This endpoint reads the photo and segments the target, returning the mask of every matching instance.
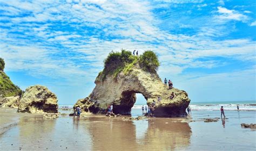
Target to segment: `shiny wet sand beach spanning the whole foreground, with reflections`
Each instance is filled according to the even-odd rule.
[[[140,110],[133,111],[137,114]],[[255,150],[256,131],[240,124],[256,123],[256,112],[225,114],[228,119],[212,123],[203,118],[219,117],[219,112],[193,111],[190,119],[43,119],[42,114],[0,108],[0,150]]]

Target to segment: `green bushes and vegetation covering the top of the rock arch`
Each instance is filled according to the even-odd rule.
[[[111,52],[104,60],[104,69],[100,71],[96,81],[104,81],[107,75],[116,77],[120,72],[128,74],[135,64],[145,71],[156,73],[160,63],[156,53],[145,51],[142,55],[132,55],[130,51]]]

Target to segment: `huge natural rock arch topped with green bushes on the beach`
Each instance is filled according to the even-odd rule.
[[[106,61],[110,60],[110,54],[105,61],[104,70],[96,78],[96,87],[90,96],[78,100],[75,106],[79,105],[86,112],[105,113],[107,106],[113,105],[115,114],[129,115],[131,114],[131,107],[136,102],[136,93],[140,93],[147,100],[147,105],[151,105],[153,100],[157,102],[158,97],[161,98],[160,102],[155,106],[156,117],[186,116],[185,110],[190,103],[187,93],[176,88],[169,90],[164,87],[164,83],[161,82],[156,72],[156,66],[150,69],[144,63],[145,60],[149,60],[148,62],[151,63],[157,59],[153,52],[150,53],[150,55],[144,53],[140,57],[129,55],[128,57],[131,57],[132,60],[128,63],[123,63],[124,65],[116,65],[121,64],[123,61],[118,62],[116,58],[111,60],[112,64],[109,62],[107,64]],[[123,51],[120,55],[123,55]],[[112,65],[112,68],[107,67],[106,64],[107,66]],[[170,99],[172,92],[174,92],[175,96]]]

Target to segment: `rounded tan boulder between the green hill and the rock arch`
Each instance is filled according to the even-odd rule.
[[[35,85],[26,89],[19,100],[18,112],[57,113],[58,100],[48,88]]]

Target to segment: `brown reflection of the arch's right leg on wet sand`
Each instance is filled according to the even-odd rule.
[[[191,128],[188,123],[172,119],[149,119],[149,128],[145,137],[146,150],[173,150],[190,145]]]

